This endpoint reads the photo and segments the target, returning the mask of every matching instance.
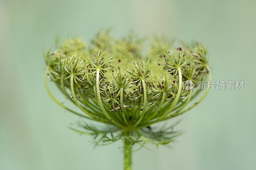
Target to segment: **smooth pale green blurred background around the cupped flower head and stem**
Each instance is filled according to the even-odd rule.
[[[69,130],[78,117],[44,88],[43,47],[56,33],[89,42],[102,28],[116,37],[130,29],[164,33],[208,47],[214,81],[244,81],[243,90],[212,90],[182,119],[186,133],[172,149],[133,154],[133,169],[256,169],[256,1],[0,1],[0,169],[122,169],[121,142],[93,149]],[[61,97],[50,83],[54,94]],[[174,120],[174,121],[176,121]],[[170,121],[173,123],[173,121]]]

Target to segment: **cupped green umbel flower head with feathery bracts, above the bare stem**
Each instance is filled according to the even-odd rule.
[[[94,135],[98,138],[97,145],[119,139],[130,148],[135,143],[167,144],[179,133],[173,127],[156,130],[151,124],[181,115],[204,99],[208,90],[198,101],[189,104],[203,90],[187,90],[185,81],[196,84],[207,77],[211,81],[207,50],[202,44],[173,49],[170,42],[155,36],[150,46],[153,53],[143,62],[146,56],[141,54],[142,39],[133,34],[118,40],[101,31],[92,40],[91,48],[80,37],[68,39],[57,45],[55,51],[44,53],[46,89],[61,107],[108,124],[97,128],[81,123],[84,131],[74,129]],[[130,65],[129,61],[134,62]],[[47,75],[83,113],[69,109],[54,98],[47,86]]]

